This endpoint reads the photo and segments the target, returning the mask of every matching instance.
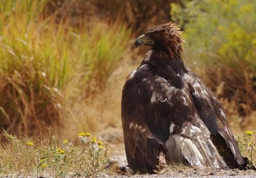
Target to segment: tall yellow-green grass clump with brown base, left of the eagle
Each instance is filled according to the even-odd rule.
[[[104,88],[129,40],[125,25],[87,29],[41,18],[47,1],[1,1],[0,127],[38,133],[72,103]],[[97,89],[92,86],[98,86]]]

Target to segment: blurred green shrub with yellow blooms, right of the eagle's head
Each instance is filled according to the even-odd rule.
[[[256,1],[209,0],[171,4],[185,29],[187,63],[218,96],[235,101],[234,114],[256,109]]]

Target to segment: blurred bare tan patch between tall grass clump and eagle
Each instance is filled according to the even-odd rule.
[[[97,133],[113,128],[122,131],[121,98],[122,89],[127,75],[134,70],[139,61],[132,60],[133,53],[125,52],[122,61],[106,82],[106,89],[97,96],[79,100],[70,110],[72,115],[64,120],[61,131],[67,137],[74,137],[74,130],[89,130]],[[108,133],[109,134],[109,133]]]

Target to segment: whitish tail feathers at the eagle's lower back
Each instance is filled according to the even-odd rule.
[[[186,163],[187,161],[189,165],[202,168],[228,168],[210,139],[197,137],[191,140],[181,135],[170,135],[166,147],[169,159],[174,162]]]

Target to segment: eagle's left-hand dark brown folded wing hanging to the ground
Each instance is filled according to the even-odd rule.
[[[152,174],[159,163],[161,142],[147,126],[144,105],[149,101],[151,94],[147,92],[147,87],[143,87],[147,80],[141,81],[147,73],[141,70],[143,69],[133,72],[125,82],[122,95],[122,126],[129,167],[134,171]]]

